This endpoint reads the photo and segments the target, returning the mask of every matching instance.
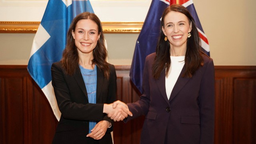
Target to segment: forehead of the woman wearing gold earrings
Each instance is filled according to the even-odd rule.
[[[175,22],[180,22],[180,21],[185,21],[188,22],[188,17],[185,14],[182,14],[180,12],[174,12],[170,11],[166,16],[164,17],[164,23],[175,23]]]

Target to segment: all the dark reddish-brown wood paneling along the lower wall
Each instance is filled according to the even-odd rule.
[[[130,66],[116,66],[117,99],[139,99]],[[215,66],[215,144],[256,144],[256,66]],[[115,122],[115,144],[138,144],[144,116]],[[0,66],[0,143],[50,144],[58,124],[26,66]]]

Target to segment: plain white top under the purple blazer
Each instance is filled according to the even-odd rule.
[[[171,67],[169,70],[169,75],[165,77],[165,89],[168,100],[172,93],[172,89],[180,75],[180,72],[185,64],[185,56],[170,56],[171,57]]]

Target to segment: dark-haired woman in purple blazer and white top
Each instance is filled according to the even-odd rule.
[[[124,122],[145,115],[141,144],[213,144],[213,61],[184,6],[166,8],[161,29],[156,52],[146,57],[143,94],[127,104],[133,116]]]

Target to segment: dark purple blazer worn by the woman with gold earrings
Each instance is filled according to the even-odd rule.
[[[165,70],[160,78],[152,76],[156,54],[146,57],[140,100],[128,104],[133,116],[145,115],[141,144],[213,144],[214,143],[214,64],[203,56],[204,66],[192,78],[183,78],[182,68],[168,100]]]

